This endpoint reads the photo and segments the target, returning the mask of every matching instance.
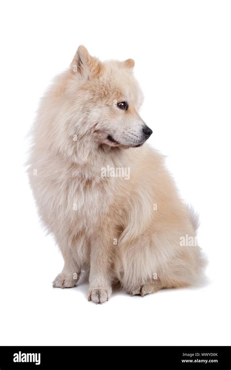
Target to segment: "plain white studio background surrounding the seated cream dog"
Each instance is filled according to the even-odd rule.
[[[231,2],[1,1],[0,344],[231,345]],[[210,282],[109,302],[53,289],[63,261],[39,225],[23,163],[39,98],[79,44],[135,59],[150,143],[200,214]]]

